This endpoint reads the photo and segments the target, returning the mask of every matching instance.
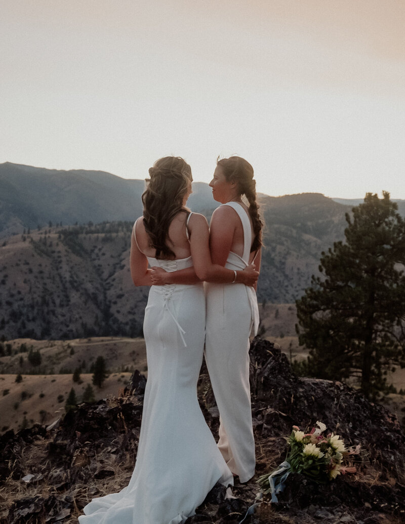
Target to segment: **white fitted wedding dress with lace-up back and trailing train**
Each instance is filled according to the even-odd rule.
[[[191,257],[148,261],[167,271],[192,266]],[[121,492],[87,504],[80,524],[179,524],[217,482],[233,484],[197,399],[204,334],[202,283],[150,288],[148,380],[135,470]]]

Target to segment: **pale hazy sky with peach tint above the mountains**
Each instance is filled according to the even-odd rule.
[[[405,199],[403,0],[0,0],[0,162]]]

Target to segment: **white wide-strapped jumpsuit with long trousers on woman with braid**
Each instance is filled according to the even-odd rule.
[[[249,264],[251,227],[242,205],[228,202],[239,215],[244,231],[244,252],[230,252],[225,267],[244,269]],[[255,290],[240,283],[206,283],[205,360],[220,411],[220,449],[240,482],[255,474],[255,441],[249,387],[249,335],[257,333],[259,312]]]

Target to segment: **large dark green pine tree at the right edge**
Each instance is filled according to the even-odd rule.
[[[346,213],[346,242],[322,253],[321,277],[297,300],[300,344],[311,374],[354,377],[367,397],[388,388],[405,362],[405,221],[389,193],[367,193]]]

